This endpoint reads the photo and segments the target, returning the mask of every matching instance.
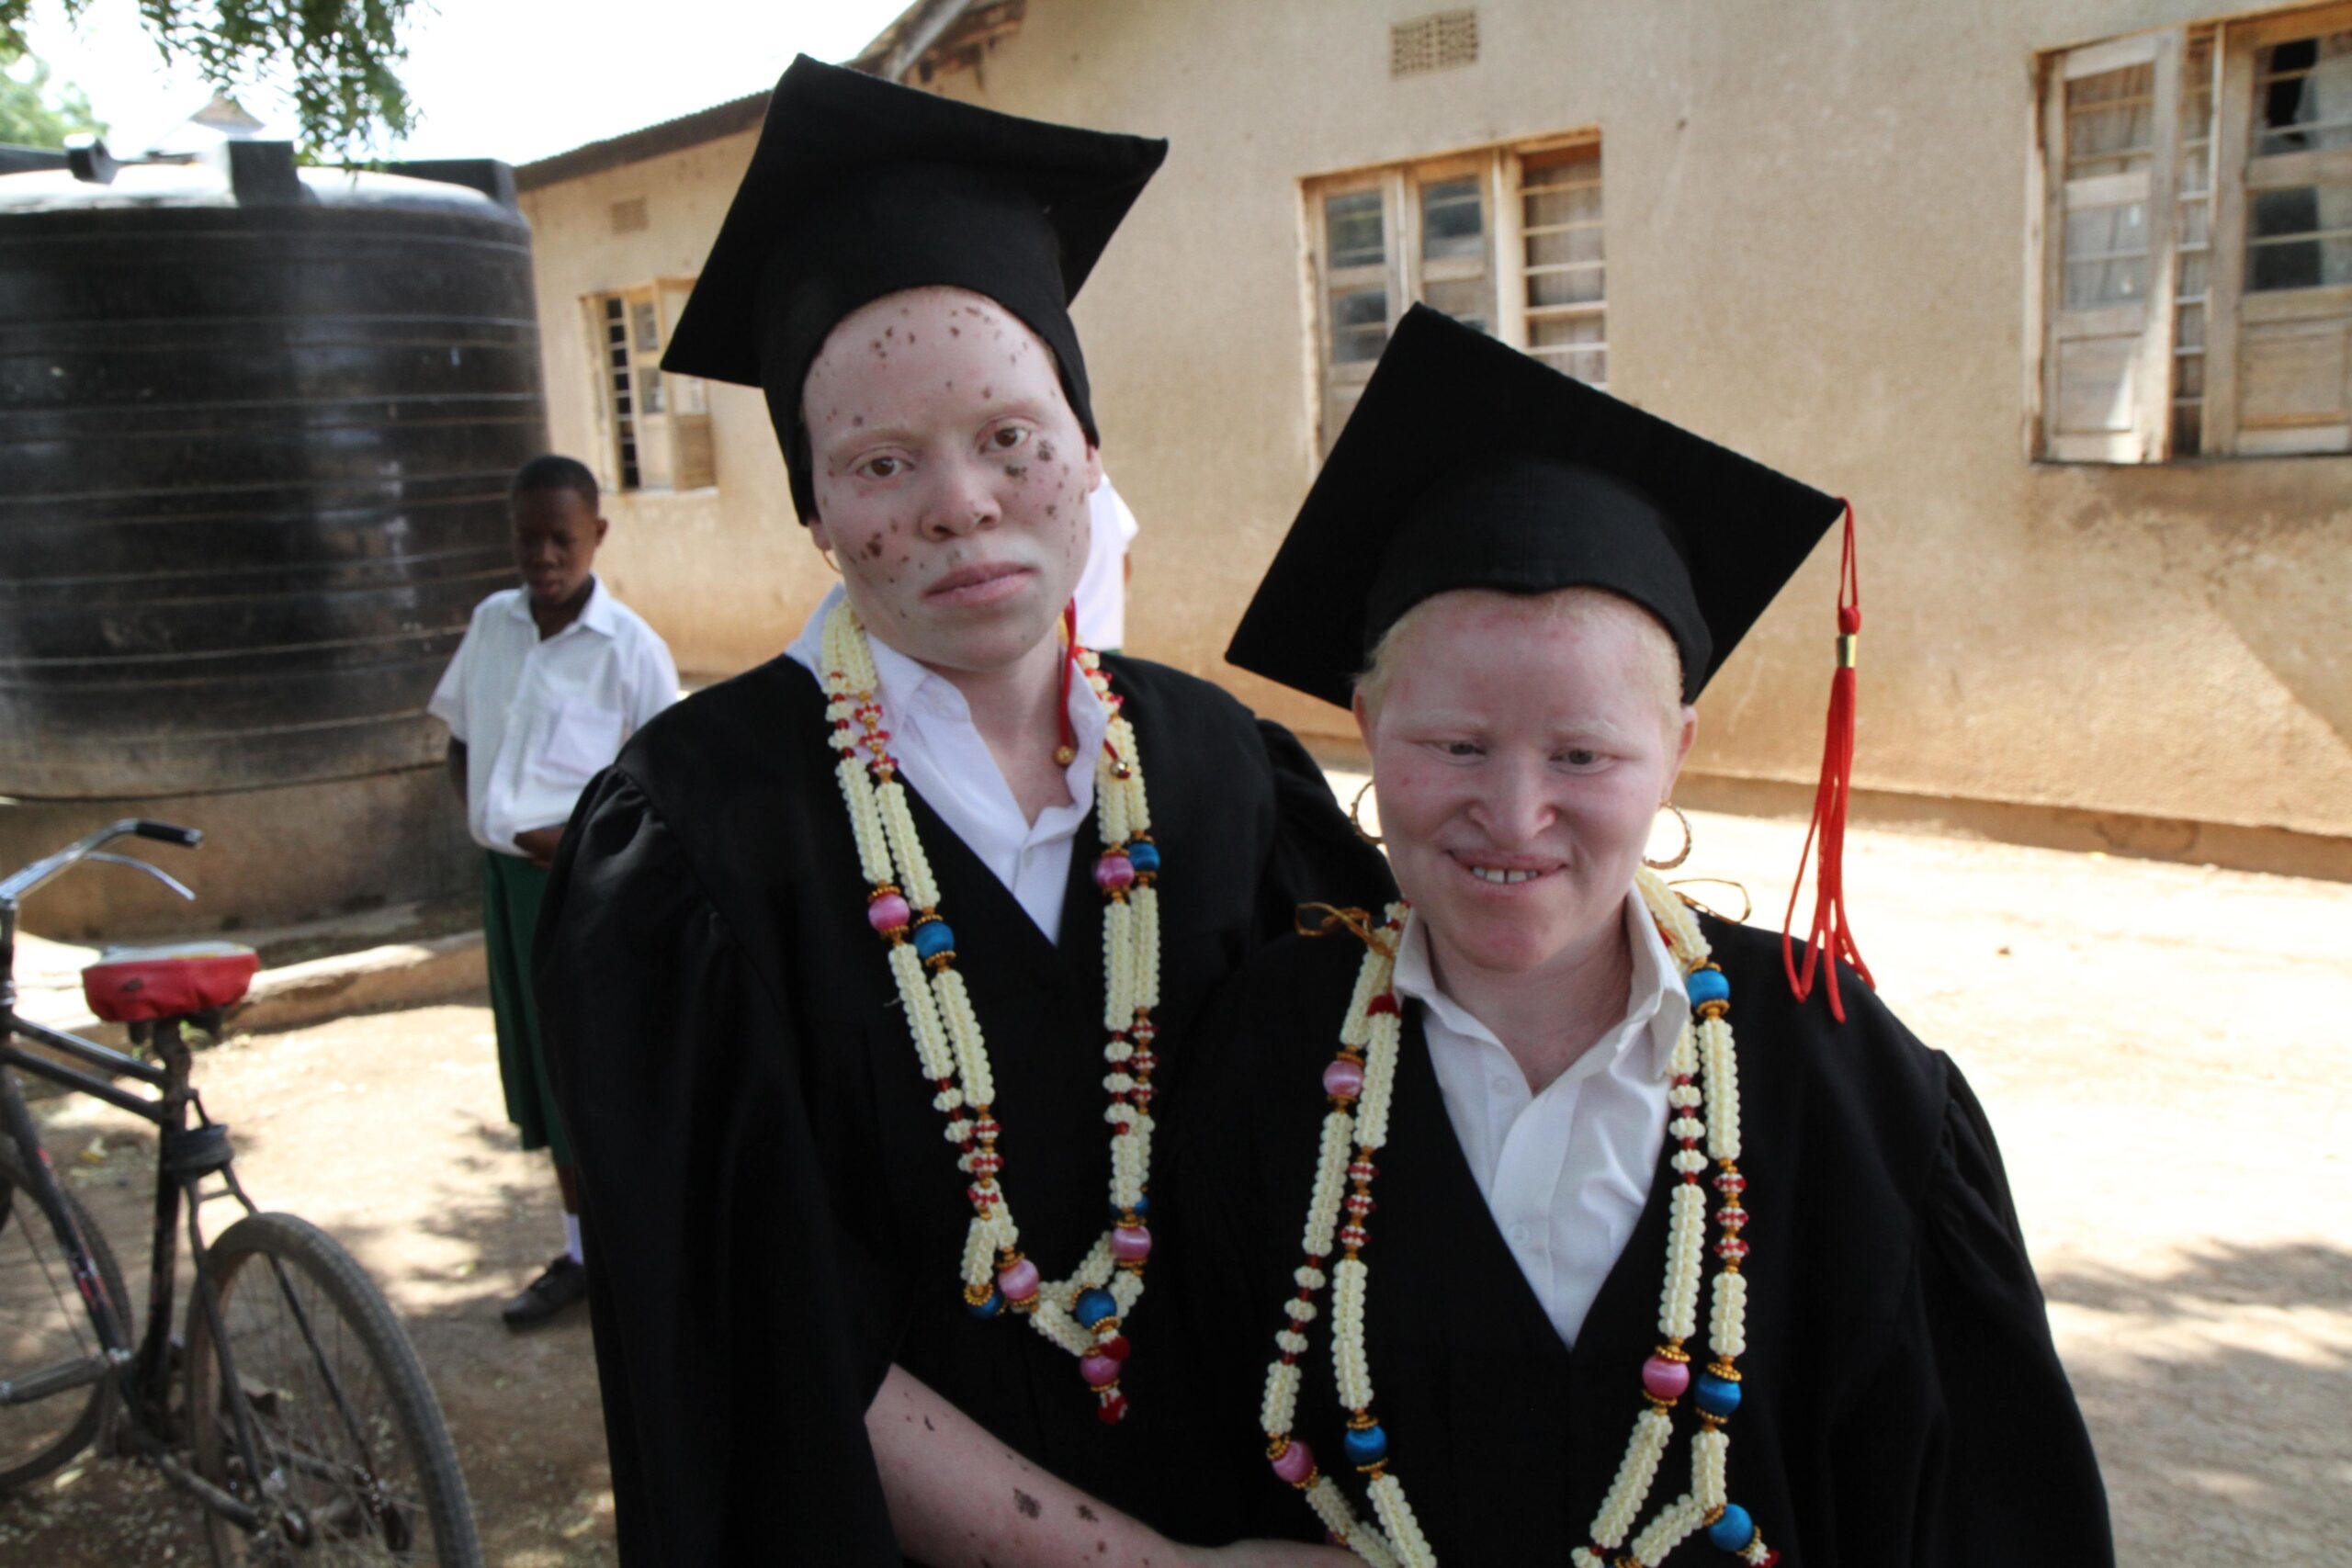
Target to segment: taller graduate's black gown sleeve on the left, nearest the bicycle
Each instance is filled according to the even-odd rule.
[[[898,1568],[866,1443],[887,1284],[833,1220],[781,997],[612,769],[539,926],[628,1568]]]

